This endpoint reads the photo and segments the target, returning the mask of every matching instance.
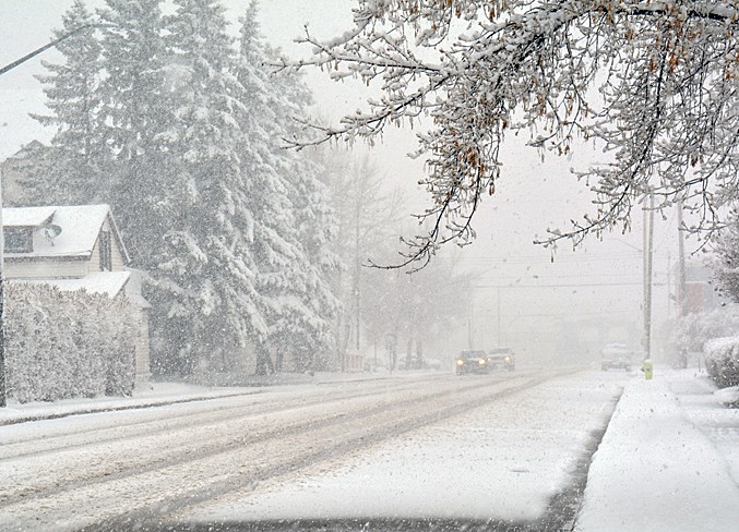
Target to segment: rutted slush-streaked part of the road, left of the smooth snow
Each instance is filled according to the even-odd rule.
[[[527,394],[550,378],[537,372],[469,378],[430,374],[291,386],[4,426],[0,529],[120,529],[130,520],[160,522],[172,512],[179,519],[199,505],[251,493],[260,483],[377,451],[378,445],[395,447],[402,435],[422,438],[424,427],[462,420],[473,408],[487,420],[499,415],[486,411],[494,404],[513,414],[505,401],[515,397],[516,404],[525,404]],[[609,394],[603,396],[607,401]],[[537,403],[532,412],[540,408]],[[475,428],[479,420],[461,423]],[[473,456],[484,452],[479,434],[464,437]],[[444,445],[452,442],[438,448]]]

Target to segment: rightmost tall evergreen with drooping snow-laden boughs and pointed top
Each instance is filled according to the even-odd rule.
[[[263,66],[276,52],[260,34],[254,2],[241,20],[239,51],[237,76],[247,109],[242,128],[250,132],[243,172],[253,191],[254,257],[267,302],[269,344],[277,370],[285,364],[297,371],[325,367],[338,307],[327,278],[338,264],[327,246],[335,220],[315,165],[281,146],[310,95],[297,76],[272,76]],[[260,368],[269,365],[262,361]]]

